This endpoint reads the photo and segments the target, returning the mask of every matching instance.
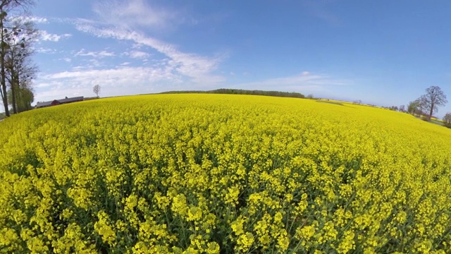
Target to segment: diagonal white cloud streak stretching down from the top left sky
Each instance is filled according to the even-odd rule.
[[[143,0],[99,1],[94,4],[93,11],[98,20],[80,18],[76,20],[75,28],[96,37],[129,41],[135,44],[135,48],[150,47],[170,60],[166,62],[168,69],[176,75],[189,78],[192,83],[221,83],[225,80],[214,72],[226,54],[202,56],[182,52],[174,44],[157,40],[144,32],[144,27],[168,25],[175,12],[150,6]],[[141,50],[128,52],[128,55],[145,59],[149,53]]]

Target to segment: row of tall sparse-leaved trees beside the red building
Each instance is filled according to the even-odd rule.
[[[39,32],[29,18],[32,0],[0,2],[0,94],[5,115],[32,109],[32,80],[37,66],[32,61]]]

